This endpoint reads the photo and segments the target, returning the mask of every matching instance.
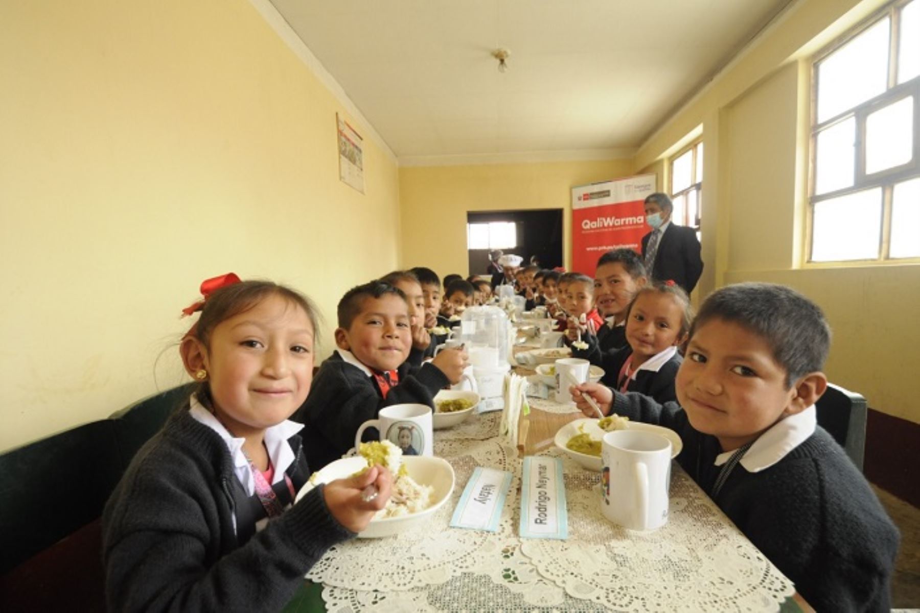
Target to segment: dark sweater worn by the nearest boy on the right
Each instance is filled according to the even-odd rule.
[[[712,494],[719,440],[694,429],[680,405],[615,392],[612,412],[680,434],[678,463]],[[748,471],[742,458],[714,502],[816,610],[890,610],[898,529],[822,427],[765,469]]]

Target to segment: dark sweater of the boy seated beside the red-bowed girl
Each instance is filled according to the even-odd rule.
[[[450,385],[447,376],[431,363],[420,368],[403,362],[397,369],[399,383],[384,398],[373,377],[333,353],[316,373],[306,402],[291,419],[304,427],[306,461],[318,471],[354,447],[354,435],[361,425],[376,419],[385,406],[403,403],[434,407],[434,395]],[[376,429],[364,431],[373,440]]]

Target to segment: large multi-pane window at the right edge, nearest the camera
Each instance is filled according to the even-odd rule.
[[[812,83],[810,261],[920,257],[920,0],[819,53]]]

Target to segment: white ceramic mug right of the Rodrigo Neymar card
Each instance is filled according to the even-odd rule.
[[[630,530],[654,530],[668,522],[671,441],[638,430],[615,430],[601,445],[601,512]]]

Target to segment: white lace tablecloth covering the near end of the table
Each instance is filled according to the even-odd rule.
[[[480,426],[492,419],[477,417]],[[549,449],[564,462],[569,539],[520,539],[516,450],[439,433],[435,454],[456,474],[453,500],[424,528],[329,550],[307,574],[324,585],[328,610],[775,611],[795,591],[676,464],[668,524],[632,532],[601,515],[600,475]],[[449,528],[477,466],[514,475],[497,533]]]

